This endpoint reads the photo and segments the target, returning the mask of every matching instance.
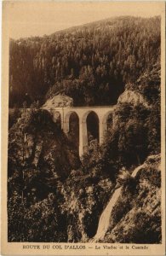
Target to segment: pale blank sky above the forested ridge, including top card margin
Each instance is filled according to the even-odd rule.
[[[3,3],[3,26],[9,38],[49,35],[72,26],[112,16],[161,15],[161,2],[54,2],[23,1]]]

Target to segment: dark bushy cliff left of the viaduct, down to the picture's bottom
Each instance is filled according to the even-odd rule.
[[[32,109],[11,127],[8,165],[9,241],[66,241],[59,190],[80,160],[48,111]]]

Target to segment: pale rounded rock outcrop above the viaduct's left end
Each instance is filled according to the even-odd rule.
[[[71,97],[59,94],[57,96],[53,96],[51,99],[49,99],[45,104],[43,105],[44,109],[51,109],[51,108],[66,108],[66,107],[72,107],[73,106],[73,100]]]

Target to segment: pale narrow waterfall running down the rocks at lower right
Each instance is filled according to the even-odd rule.
[[[134,172],[132,172],[131,176],[135,177],[136,174],[143,167],[145,167],[145,164],[135,168],[135,170],[134,170]],[[108,202],[106,208],[101,213],[99,224],[98,224],[98,229],[97,229],[97,232],[96,232],[94,238],[92,239],[92,241],[95,242],[95,241],[102,240],[106,236],[106,231],[108,230],[109,224],[110,224],[110,218],[112,217],[112,209],[115,206],[115,204],[116,204],[116,202],[119,198],[119,195],[121,194],[121,191],[122,191],[122,186],[114,191],[114,193],[113,193],[110,201]]]

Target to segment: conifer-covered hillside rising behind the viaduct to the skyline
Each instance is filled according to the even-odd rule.
[[[160,18],[117,17],[10,40],[9,107],[40,104],[60,90],[75,106],[111,105],[124,84],[160,56]]]

